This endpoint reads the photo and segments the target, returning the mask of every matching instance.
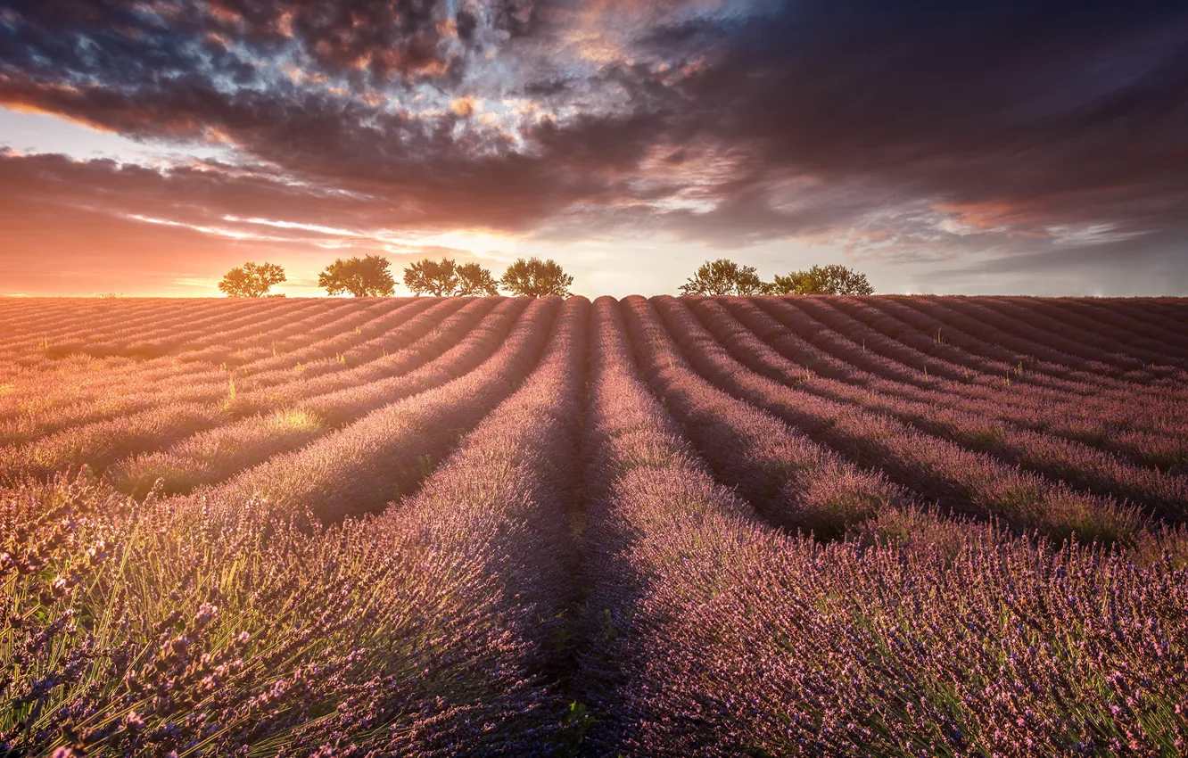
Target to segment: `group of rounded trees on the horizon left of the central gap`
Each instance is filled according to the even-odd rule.
[[[350,293],[355,297],[390,297],[396,279],[388,270],[392,263],[383,255],[337,259],[317,276],[317,285],[327,295]],[[285,280],[284,269],[276,264],[248,263],[228,271],[219,289],[230,297],[264,297],[273,285]],[[449,258],[418,260],[404,270],[404,285],[415,295],[499,295],[499,288],[520,297],[569,297],[574,278],[555,260],[520,258],[495,279],[476,263],[459,264]]]

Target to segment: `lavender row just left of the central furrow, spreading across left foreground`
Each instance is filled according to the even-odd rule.
[[[113,554],[71,595],[94,609],[80,614],[96,620],[94,636],[67,628],[50,664],[94,649],[96,637],[115,638],[127,655],[83,658],[80,676],[56,684],[69,705],[49,699],[42,724],[69,718],[88,752],[102,750],[106,734],[94,729],[108,714],[128,712],[143,715],[146,733],[164,734],[165,747],[219,756],[242,745],[326,753],[343,735],[374,754],[563,750],[568,701],[556,694],[554,631],[573,594],[564,512],[588,309],[567,304],[542,371],[413,500],[379,518],[303,532],[252,501],[146,507],[87,485],[0,491],[0,533],[14,516],[68,501],[86,513],[75,533],[100,531]],[[228,514],[238,518],[221,520]],[[113,602],[135,608],[137,623],[109,623]],[[178,645],[184,653],[170,655]],[[177,696],[194,687],[201,697]],[[0,709],[0,728],[19,718]],[[63,738],[38,727],[15,739],[39,752]]]

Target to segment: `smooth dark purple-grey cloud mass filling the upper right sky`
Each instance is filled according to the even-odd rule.
[[[1020,227],[1188,207],[1182,2],[797,2],[731,29],[645,40],[707,61],[669,130],[754,151],[727,201],[790,172]]]

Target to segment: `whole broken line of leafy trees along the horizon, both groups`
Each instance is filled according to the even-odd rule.
[[[388,271],[391,261],[383,255],[337,259],[317,277],[317,285],[328,295],[349,292],[355,297],[386,297],[396,291],[396,279]],[[227,272],[219,289],[232,297],[264,297],[273,285],[285,280],[284,269],[276,264],[248,263]],[[449,258],[425,258],[404,270],[404,285],[416,295],[450,297],[455,295],[499,295],[500,288],[520,297],[569,297],[574,278],[555,260],[520,258],[495,279],[476,263],[459,264]],[[776,276],[771,282],[759,278],[754,266],[741,266],[720,258],[707,260],[681,285],[682,295],[872,295],[874,288],[866,274],[846,266],[813,266]]]

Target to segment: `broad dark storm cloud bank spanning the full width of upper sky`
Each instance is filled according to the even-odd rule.
[[[323,215],[1057,260],[1146,236],[1168,255],[1188,213],[1183,2],[8,8],[0,102],[145,139],[226,140],[369,198]],[[484,120],[450,102],[463,95],[533,109]],[[434,96],[441,107],[410,109]]]

